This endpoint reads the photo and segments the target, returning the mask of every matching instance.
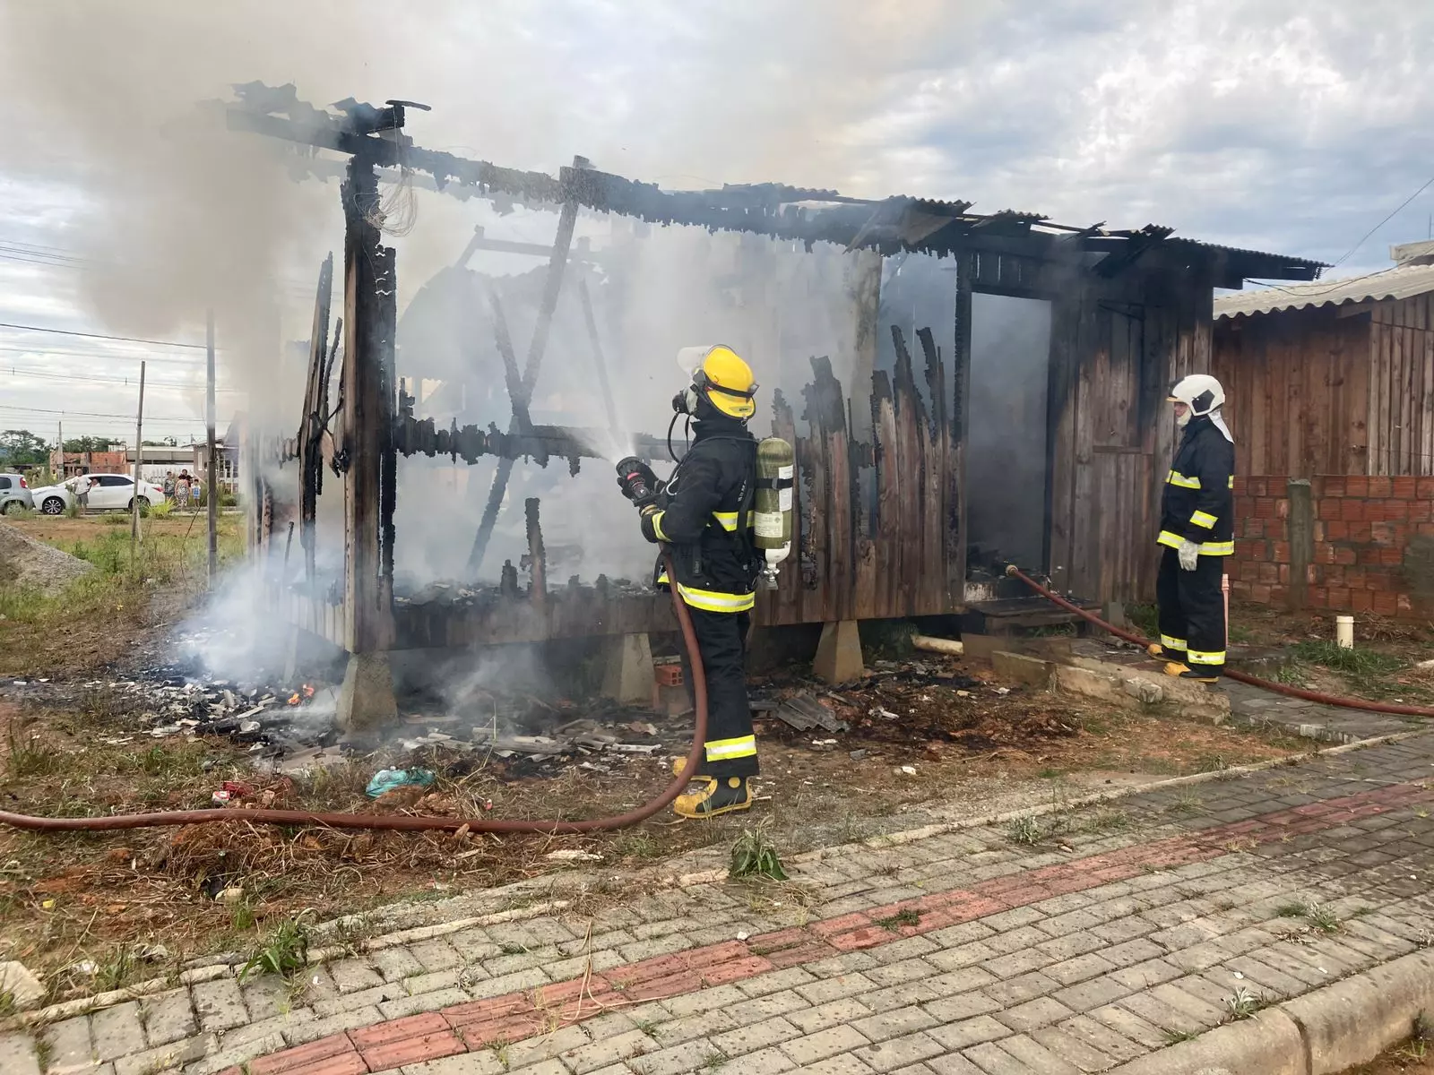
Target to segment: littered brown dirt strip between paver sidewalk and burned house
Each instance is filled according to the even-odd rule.
[[[759,728],[763,777],[751,814],[678,823],[660,814],[637,828],[592,837],[285,830],[242,821],[244,804],[313,810],[412,810],[443,816],[599,817],[654,797],[671,778],[670,757],[642,757],[614,774],[576,765],[518,775],[525,761],[396,755],[433,765],[436,788],[396,793],[374,804],[363,788],[377,767],[348,764],[313,777],[254,775],[228,740],[148,740],[129,714],[92,695],[75,711],[0,712],[4,774],[0,804],[17,813],[95,816],[198,808],[224,781],[247,787],[232,823],[110,834],[0,831],[3,956],[42,970],[54,996],[103,982],[162,973],[136,959],[162,943],[174,963],[217,950],[247,950],[278,920],[320,919],[393,900],[423,900],[562,869],[546,856],[582,849],[609,864],[638,864],[727,844],[757,821],[784,854],[919,826],[932,807],[971,816],[1028,808],[1156,775],[1222,768],[1302,751],[1292,741],[1140,714],[1111,714],[1048,694],[1012,691],[981,702],[946,688],[916,688],[925,699],[909,724],[878,720],[812,745],[769,720]],[[915,732],[915,734],[912,734]],[[128,741],[126,741],[128,740]],[[675,744],[674,752],[684,744]],[[432,751],[432,748],[424,748]],[[852,758],[850,751],[866,751]],[[902,767],[913,770],[906,773]],[[485,810],[492,804],[490,813]],[[1048,823],[1053,837],[1060,818]],[[1098,824],[1136,824],[1114,806]],[[241,890],[219,896],[224,890]],[[227,904],[224,900],[237,899]]]

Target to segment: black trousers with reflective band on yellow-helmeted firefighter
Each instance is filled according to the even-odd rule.
[[[697,635],[697,649],[707,675],[707,742],[697,774],[706,777],[757,775],[757,738],[747,707],[747,612],[707,612],[687,606]],[[693,692],[693,669],[683,648],[683,678]],[[695,704],[695,702],[694,702]],[[694,775],[697,775],[694,774]]]

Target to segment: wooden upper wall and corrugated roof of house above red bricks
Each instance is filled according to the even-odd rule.
[[[1394,268],[1215,300],[1242,474],[1434,474],[1434,242]]]

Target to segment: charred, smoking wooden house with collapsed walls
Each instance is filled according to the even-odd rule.
[[[324,282],[303,424],[270,456],[297,460],[305,559],[303,570],[274,580],[272,599],[293,622],[360,655],[351,679],[363,678],[363,655],[394,649],[673,629],[667,598],[650,586],[554,570],[545,530],[562,497],[523,496],[519,506],[509,494],[515,474],[539,467],[549,487],[594,472],[611,490],[601,447],[611,440],[668,457],[668,413],[644,407],[619,419],[612,403],[614,386],[621,394],[652,374],[614,371],[628,348],[592,328],[612,325],[614,304],[640,285],[631,252],[661,234],[726,244],[704,308],[743,315],[717,317],[675,344],[703,343],[701,331],[711,330],[746,348],[759,381],[773,386],[764,400],[770,429],[796,446],[796,549],[779,588],[760,595],[757,619],[833,631],[863,619],[999,615],[1007,606],[995,569],[1004,560],[1091,601],[1149,596],[1173,433],[1163,400],[1174,377],[1209,366],[1213,288],[1246,277],[1314,280],[1321,268],[1163,226],[1058,225],[1030,212],[977,214],[961,201],[859,199],[780,183],[671,192],[581,159],[559,176],[506,169],[414,146],[402,130],[403,105],[324,112],[297,102],[291,87],[247,87],[228,122],[300,143],[307,155],[297,166],[320,173],[331,175],[333,165],[311,148],[348,158],[341,360],[338,341],[327,340]],[[545,258],[545,271],[496,287],[470,282],[476,290],[459,297],[475,317],[455,341],[457,360],[440,361],[420,343],[417,321],[412,334],[400,322],[394,255],[374,212],[380,169],[552,211],[551,247],[529,249]],[[579,218],[617,221],[621,241],[576,249]],[[473,242],[521,245],[485,235]],[[589,262],[604,258],[601,278],[589,275]],[[437,278],[432,285],[469,287]],[[803,305],[817,294],[823,317]],[[565,295],[568,321],[559,317],[555,328]],[[531,311],[531,333],[512,331],[515,307]],[[739,324],[734,338],[727,325]],[[565,361],[582,363],[591,398],[604,400],[598,429],[538,413],[555,345]],[[470,360],[483,376],[455,388],[465,380],[465,348],[482,351]],[[663,355],[664,368],[674,353]],[[674,387],[668,381],[665,391]],[[500,398],[503,419],[479,424],[469,393],[489,404]],[[648,433],[632,433],[640,423]],[[482,517],[453,539],[467,553],[457,601],[394,589],[396,546],[410,540],[396,525],[397,476],[423,459],[485,476],[476,492]],[[317,484],[328,464],[341,476],[344,502],[343,570],[334,579],[314,565]],[[261,543],[282,510],[277,496],[271,487],[257,522]],[[488,545],[503,520],[521,527],[525,548],[498,566]],[[640,546],[635,526],[630,533]]]

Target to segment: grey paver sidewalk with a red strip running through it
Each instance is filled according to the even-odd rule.
[[[1431,942],[1434,732],[1007,828],[847,846],[40,1032],[70,1075],[1070,1075]],[[1053,831],[1054,828],[1054,831]],[[1296,907],[1312,914],[1292,914]],[[1321,926],[1326,927],[1321,929]],[[0,1072],[39,1071],[27,1033]]]

